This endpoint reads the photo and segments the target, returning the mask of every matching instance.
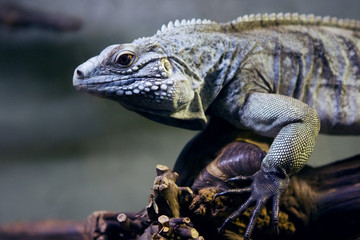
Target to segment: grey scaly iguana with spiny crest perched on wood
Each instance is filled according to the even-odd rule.
[[[251,194],[220,227],[253,204],[248,239],[270,199],[276,230],[279,199],[313,151],[320,123],[322,133],[360,133],[359,56],[356,20],[297,13],[176,20],[152,37],[107,47],[76,68],[73,85],[168,125],[201,130],[210,116],[273,138],[261,170],[236,178],[252,183],[230,192]],[[201,145],[201,134],[190,145]],[[175,164],[191,169],[183,183],[199,171],[192,155],[185,150]]]

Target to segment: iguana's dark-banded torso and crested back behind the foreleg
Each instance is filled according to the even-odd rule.
[[[307,103],[319,114],[323,133],[360,133],[358,28],[280,24],[231,34],[256,41],[241,63],[242,74],[252,72],[247,77],[261,86],[256,91]]]

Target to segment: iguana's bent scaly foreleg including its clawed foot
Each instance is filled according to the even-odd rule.
[[[309,158],[320,128],[319,118],[308,105],[286,96],[252,93],[240,109],[241,124],[258,134],[275,137],[261,169],[253,176],[238,176],[230,181],[252,180],[250,187],[233,189],[218,196],[251,193],[249,199],[230,215],[220,227],[242,214],[251,204],[255,209],[244,239],[248,239],[257,215],[265,203],[272,199],[275,229],[279,219],[280,197],[285,193],[289,178],[300,171]]]

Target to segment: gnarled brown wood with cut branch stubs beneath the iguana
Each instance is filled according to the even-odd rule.
[[[192,190],[175,184],[177,174],[157,167],[149,205],[138,213],[94,212],[88,217],[86,240],[219,239],[217,227],[246,199],[216,193],[241,187],[226,179],[251,174],[265,156],[254,143],[232,142],[215,154],[195,179]],[[245,184],[246,185],[246,184]],[[245,196],[246,197],[246,196]],[[223,239],[242,239],[251,209],[234,221]],[[253,239],[344,239],[360,237],[360,155],[318,168],[305,167],[280,205],[280,234],[273,236],[271,210],[258,217]],[[52,226],[52,227],[51,227]],[[81,223],[40,222],[0,228],[0,239],[81,239]]]

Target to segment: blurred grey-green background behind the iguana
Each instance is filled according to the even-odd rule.
[[[360,1],[0,0],[0,224],[144,207],[156,164],[172,167],[196,132],[77,93],[75,67],[169,20],[227,22],[265,12],[360,19]],[[321,136],[310,164],[359,146],[360,137]]]

